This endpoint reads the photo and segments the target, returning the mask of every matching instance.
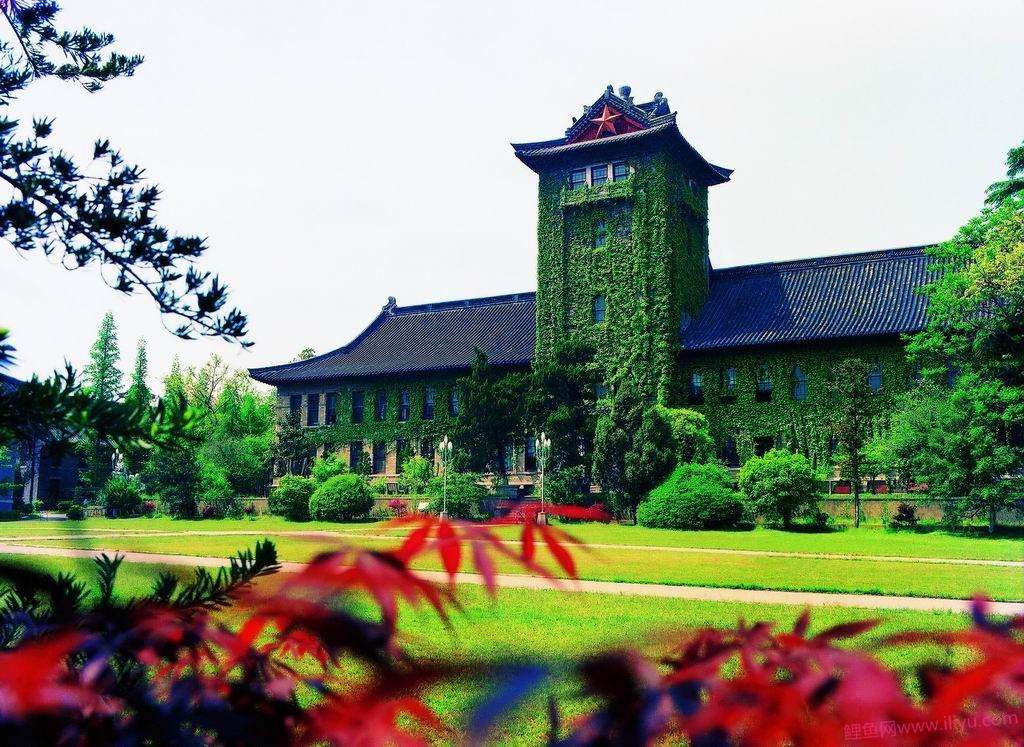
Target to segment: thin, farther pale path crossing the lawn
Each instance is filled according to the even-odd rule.
[[[124,532],[113,532],[111,530],[86,530],[84,532],[71,534],[48,534],[34,535],[28,537],[0,537],[0,542],[50,542],[58,540],[91,540],[102,537],[180,537],[189,535],[195,537],[308,537],[326,540],[332,539],[370,539],[370,540],[390,540],[398,541],[400,535],[367,534],[361,532],[331,532],[328,530],[309,530],[307,532],[296,530],[270,530],[270,531],[249,531],[249,530],[187,530],[184,532],[164,532],[162,530],[126,530]],[[518,545],[519,540],[503,540],[505,544]],[[809,559],[833,559],[833,561],[876,561],[881,563],[912,563],[932,564],[940,566],[994,566],[1000,568],[1021,568],[1024,569],[1024,561],[998,561],[973,557],[915,557],[907,555],[858,555],[849,552],[796,552],[788,550],[744,550],[728,547],[673,547],[670,545],[626,545],[626,544],[603,544],[587,542],[586,547],[591,549],[609,550],[636,550],[640,552],[682,552],[689,554],[720,554],[720,555],[746,555],[755,557],[797,557]]]

